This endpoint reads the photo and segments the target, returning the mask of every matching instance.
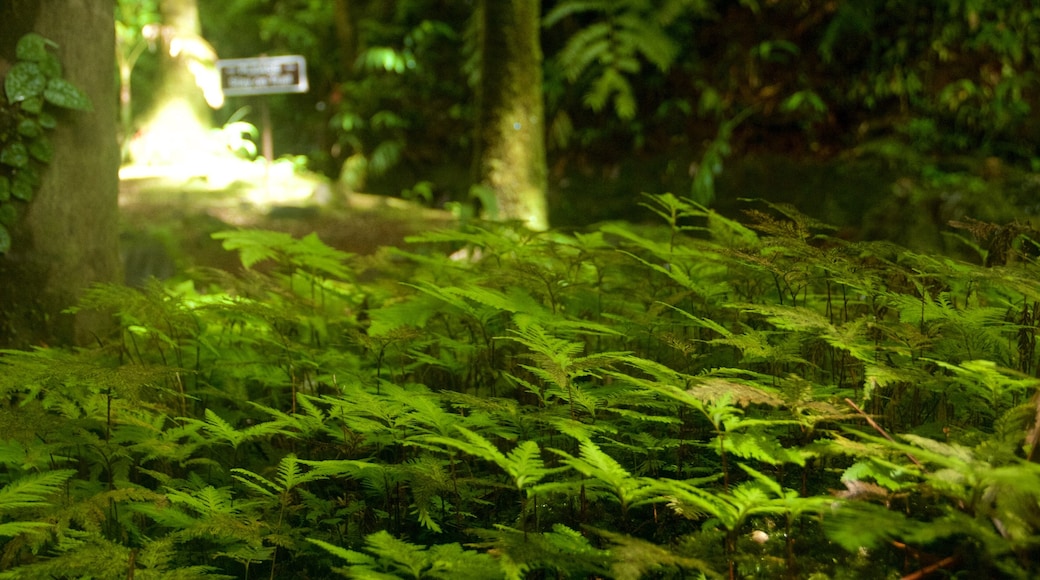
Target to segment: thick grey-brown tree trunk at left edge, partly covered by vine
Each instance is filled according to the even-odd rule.
[[[11,228],[10,253],[0,256],[0,346],[90,340],[101,320],[61,311],[90,284],[121,278],[112,6],[98,0],[0,4],[0,76],[15,60],[18,38],[34,31],[57,43],[66,78],[94,103],[92,112],[54,111],[53,160]]]

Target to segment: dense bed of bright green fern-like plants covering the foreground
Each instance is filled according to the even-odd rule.
[[[97,347],[0,357],[0,578],[1040,574],[1028,232],[646,205],[93,289]]]

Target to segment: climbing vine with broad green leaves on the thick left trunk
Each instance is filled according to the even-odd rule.
[[[54,156],[47,131],[57,120],[50,107],[89,111],[86,94],[67,81],[53,42],[30,32],[15,49],[15,64],[0,95],[0,255],[10,251],[8,228],[20,203],[32,201],[40,172]],[[48,107],[50,105],[50,107]],[[47,107],[47,108],[45,108]]]

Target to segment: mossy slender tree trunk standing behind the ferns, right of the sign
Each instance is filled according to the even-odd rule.
[[[489,217],[548,228],[539,0],[480,0],[474,181],[494,192]]]

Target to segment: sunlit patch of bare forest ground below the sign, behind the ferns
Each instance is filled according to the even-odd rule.
[[[254,167],[251,167],[254,165]],[[125,168],[120,180],[121,241],[127,282],[168,278],[190,267],[235,270],[237,255],[212,234],[234,229],[311,233],[352,254],[402,245],[453,223],[450,213],[395,197],[346,193],[327,180],[243,164],[228,174]],[[199,173],[199,172],[194,172]]]

